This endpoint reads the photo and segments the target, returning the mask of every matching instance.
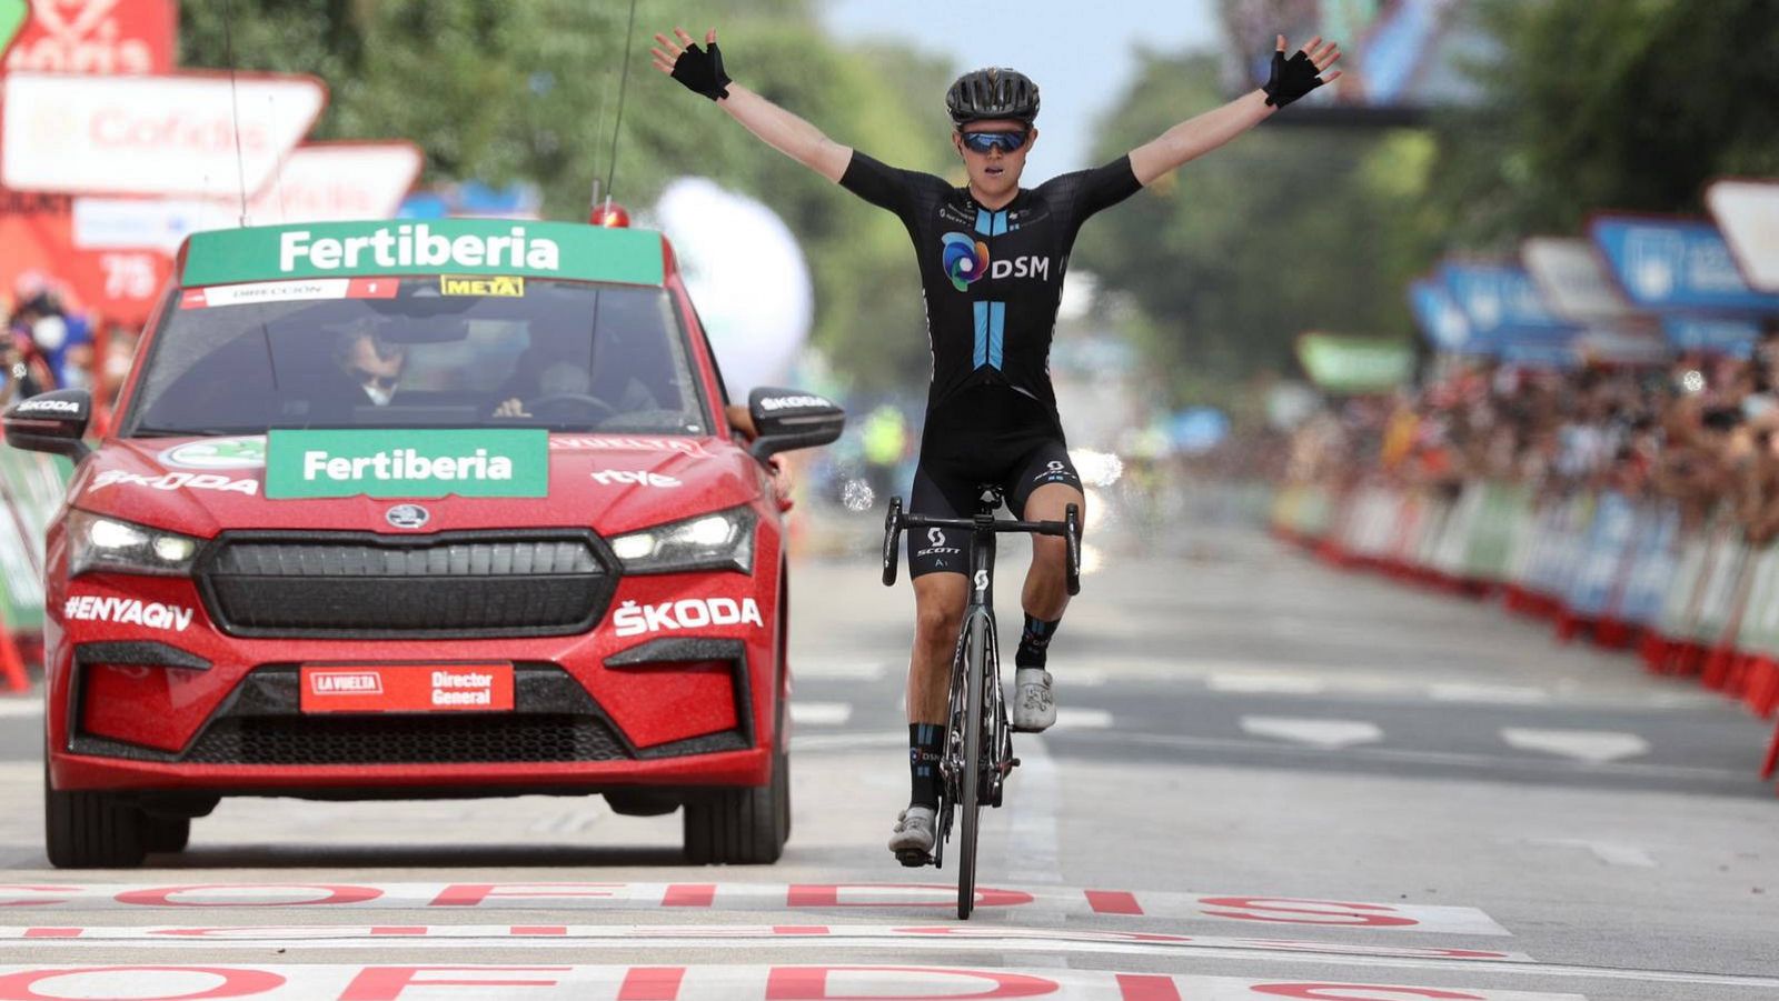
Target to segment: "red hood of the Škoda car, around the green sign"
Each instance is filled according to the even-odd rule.
[[[391,432],[398,434],[398,432]],[[756,500],[763,473],[720,437],[550,436],[543,498],[304,498],[267,500],[263,439],[110,439],[69,484],[69,503],[187,535],[285,528],[432,533],[479,528],[575,526],[616,535]],[[425,509],[402,528],[390,510]]]

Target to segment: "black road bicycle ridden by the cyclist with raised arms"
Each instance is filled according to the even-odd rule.
[[[1064,521],[998,519],[998,487],[982,487],[975,517],[925,517],[902,514],[902,498],[890,500],[884,517],[884,587],[895,583],[904,528],[955,528],[970,533],[970,603],[952,656],[950,711],[945,750],[939,754],[939,811],[932,841],[932,864],[945,868],[945,843],[952,820],[962,814],[957,864],[957,916],[970,919],[977,901],[977,834],[984,807],[1000,807],[1007,775],[1019,766],[1012,756],[1012,727],[1000,685],[1000,644],[994,637],[994,535],[1023,532],[1060,535],[1067,542],[1067,589],[1082,590],[1082,512],[1069,505]],[[902,859],[925,864],[925,859]]]

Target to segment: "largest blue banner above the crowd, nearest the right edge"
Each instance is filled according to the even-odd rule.
[[[1644,309],[1779,313],[1779,295],[1749,288],[1724,236],[1703,219],[1601,215],[1589,235]]]

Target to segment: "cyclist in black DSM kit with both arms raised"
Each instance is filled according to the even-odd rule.
[[[1050,340],[1076,231],[1092,213],[1340,76],[1336,71],[1322,78],[1340,59],[1334,43],[1316,37],[1286,57],[1279,36],[1265,87],[1187,119],[1103,167],[1021,188],[1026,153],[1037,142],[1037,85],[1005,68],[964,73],[945,94],[952,146],[970,176],[959,188],[932,174],[879,164],[735,84],[724,71],[715,28],[704,46],[683,28],[674,36],[678,43],[655,36],[656,69],[907,226],[932,345],[909,512],[930,517],[970,517],[984,482],[1000,485],[1009,507],[1026,521],[1060,521],[1071,503],[1085,509],[1050,384]],[[907,681],[913,795],[890,839],[890,850],[906,864],[920,864],[934,841],[950,663],[970,587],[964,541],[954,535],[938,528],[909,535],[916,608]],[[1062,539],[1032,539],[1021,594],[1025,628],[1014,654],[1018,731],[1042,731],[1057,718],[1046,653],[1067,605],[1064,548]]]

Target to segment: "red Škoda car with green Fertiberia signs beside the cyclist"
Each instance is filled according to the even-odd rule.
[[[699,862],[790,830],[783,484],[822,396],[722,379],[658,233],[194,235],[48,533],[48,855],[178,852],[226,795],[603,793]],[[742,428],[731,427],[735,423]],[[745,427],[745,425],[753,427]]]

